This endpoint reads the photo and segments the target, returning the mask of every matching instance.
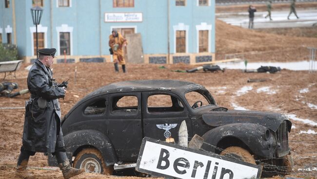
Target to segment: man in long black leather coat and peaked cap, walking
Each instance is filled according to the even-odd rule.
[[[56,156],[64,179],[69,179],[84,172],[84,169],[72,168],[65,153],[58,98],[63,98],[66,90],[55,82],[50,69],[56,49],[40,49],[38,52],[39,58],[27,77],[31,97],[25,106],[22,147],[16,175],[23,179],[34,179],[26,171],[29,157],[36,152],[44,152]]]

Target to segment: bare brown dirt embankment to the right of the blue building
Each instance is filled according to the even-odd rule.
[[[243,54],[248,61],[300,61],[308,59],[307,47],[316,45],[317,38],[268,34],[216,20],[217,60]]]

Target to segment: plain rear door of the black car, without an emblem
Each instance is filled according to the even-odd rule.
[[[109,95],[107,136],[119,161],[136,161],[142,143],[141,93]]]

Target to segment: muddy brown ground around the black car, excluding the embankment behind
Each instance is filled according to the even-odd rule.
[[[24,64],[24,67],[26,64]],[[77,84],[74,84],[74,70],[78,68]],[[317,122],[317,73],[282,70],[276,74],[243,73],[239,70],[225,72],[179,73],[171,70],[185,70],[193,66],[184,64],[128,65],[128,73],[115,73],[110,63],[54,64],[58,81],[70,78],[70,85],[64,100],[60,100],[62,114],[65,114],[80,98],[100,86],[123,80],[138,79],[178,79],[192,81],[205,86],[214,95],[219,106],[228,108],[244,107],[249,110],[264,110],[296,115],[300,119]],[[20,89],[26,88],[27,71],[17,72]],[[268,78],[261,83],[247,83],[249,78]],[[100,80],[101,79],[101,80]],[[241,89],[248,87],[245,93]],[[264,90],[269,89],[269,90]],[[306,90],[305,90],[306,89]],[[303,92],[304,91],[304,92]],[[1,97],[0,107],[23,107],[28,95],[8,99]],[[313,105],[313,106],[312,106]],[[315,105],[315,106],[314,106]],[[14,178],[14,166],[19,155],[24,122],[24,109],[0,109],[0,178]],[[292,120],[293,127],[289,142],[295,160],[295,176],[315,177],[317,171],[316,134],[300,133],[309,129],[317,131],[317,125],[304,124]],[[30,166],[46,166],[46,157],[36,154],[30,159]],[[306,171],[307,170],[307,171]],[[313,170],[313,171],[309,171]],[[61,177],[60,172],[35,170],[42,178]],[[84,174],[78,179],[94,178]],[[104,178],[109,178],[102,176]],[[98,176],[101,178],[101,176]]]

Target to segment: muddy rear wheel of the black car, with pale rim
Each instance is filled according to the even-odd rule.
[[[98,173],[111,175],[112,167],[106,167],[101,153],[96,148],[85,148],[75,157],[73,166],[75,168],[84,168],[86,173]]]

